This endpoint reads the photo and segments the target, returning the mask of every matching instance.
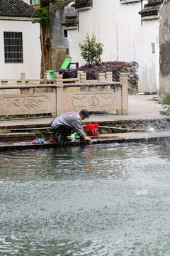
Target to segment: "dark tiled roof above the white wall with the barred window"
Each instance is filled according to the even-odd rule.
[[[22,0],[0,0],[0,16],[31,17],[35,15],[32,6]]]

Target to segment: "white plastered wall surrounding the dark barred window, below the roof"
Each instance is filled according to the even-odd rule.
[[[5,63],[4,31],[23,33],[23,63]],[[0,78],[40,78],[40,25],[30,21],[0,21]]]

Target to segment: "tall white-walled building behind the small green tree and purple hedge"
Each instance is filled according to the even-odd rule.
[[[79,12],[79,26],[68,33],[72,62],[84,65],[79,43],[84,41],[86,33],[90,36],[94,33],[96,41],[104,45],[102,61],[136,61],[140,78],[138,90],[159,90],[159,16],[149,12],[147,16],[139,14],[149,1],[91,0],[90,5],[90,1],[81,2],[88,4],[74,4]]]

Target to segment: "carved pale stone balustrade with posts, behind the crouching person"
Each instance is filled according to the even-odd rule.
[[[77,78],[54,80],[26,79],[25,73],[16,80],[0,79],[0,115],[52,114],[72,110],[128,114],[128,74],[120,73],[120,82],[112,81],[112,73],[98,73],[98,80],[86,80],[79,71]]]

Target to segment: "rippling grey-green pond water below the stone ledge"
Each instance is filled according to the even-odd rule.
[[[0,255],[170,255],[169,145],[0,153]]]

